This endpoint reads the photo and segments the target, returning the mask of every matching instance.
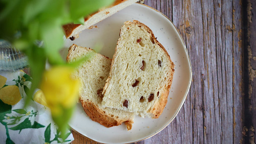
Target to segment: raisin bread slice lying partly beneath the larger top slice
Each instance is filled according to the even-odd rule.
[[[105,108],[101,104],[102,91],[109,75],[111,60],[90,48],[73,44],[68,50],[67,62],[74,62],[89,52],[92,52],[94,56],[72,74],[72,77],[79,78],[82,82],[83,86],[79,95],[85,113],[91,120],[106,127],[120,125],[125,122],[128,130],[131,129],[134,113]]]

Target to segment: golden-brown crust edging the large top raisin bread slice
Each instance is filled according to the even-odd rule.
[[[132,22],[131,21],[126,21],[124,23],[126,25],[136,24],[138,26],[143,26],[148,31],[148,33],[150,34],[150,36],[152,37],[153,41],[162,48],[162,50],[164,51],[166,57],[169,60],[168,62],[170,62],[171,67],[170,67],[170,71],[168,72],[168,74],[170,74],[171,76],[169,77],[170,79],[168,80],[168,84],[165,85],[165,87],[163,87],[163,92],[159,94],[159,96],[160,96],[159,100],[148,111],[149,116],[151,118],[157,119],[162,114],[162,112],[163,112],[163,110],[164,110],[164,108],[165,108],[165,106],[166,106],[166,104],[168,102],[168,95],[169,95],[169,92],[170,92],[170,89],[171,89],[171,83],[172,83],[172,78],[173,78],[175,64],[171,61],[170,55],[168,54],[168,52],[166,51],[164,46],[159,41],[156,40],[152,30],[147,25],[145,25],[144,23],[141,23],[140,21],[137,21],[137,20],[133,20]],[[120,34],[122,33],[121,30],[120,30]],[[119,43],[119,40],[117,41],[117,45]],[[115,57],[116,57],[116,51],[117,51],[117,46],[115,48],[115,54],[114,54],[112,62],[111,62],[110,74],[112,73],[112,66],[114,65],[114,61],[115,61]],[[107,83],[104,86],[104,94],[105,94],[105,92],[106,92],[105,90],[107,89],[107,86],[109,84],[109,80],[111,79],[110,77],[111,77],[111,75],[109,75],[109,77],[108,77],[108,79],[106,81]]]

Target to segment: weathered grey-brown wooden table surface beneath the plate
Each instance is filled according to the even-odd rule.
[[[145,0],[180,32],[192,83],[176,118],[135,144],[256,142],[256,0]],[[72,144],[97,144],[72,131]]]

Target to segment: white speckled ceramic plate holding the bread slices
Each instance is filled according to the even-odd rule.
[[[78,39],[65,41],[68,48],[73,43],[93,48],[103,44],[101,54],[112,58],[119,39],[120,28],[125,21],[138,20],[149,26],[157,40],[166,48],[175,64],[168,103],[158,119],[135,117],[132,129],[127,131],[125,124],[106,128],[93,122],[85,114],[80,103],[69,123],[81,135],[107,144],[134,143],[147,139],[165,128],[184,103],[192,80],[192,68],[186,46],[172,22],[162,13],[143,4],[135,3],[122,11],[97,23],[98,28],[84,30]],[[67,52],[65,50],[65,52]],[[64,56],[66,56],[64,54]]]

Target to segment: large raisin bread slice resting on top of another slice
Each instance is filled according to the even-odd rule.
[[[126,21],[120,31],[102,104],[158,118],[167,103],[174,63],[148,26]]]

